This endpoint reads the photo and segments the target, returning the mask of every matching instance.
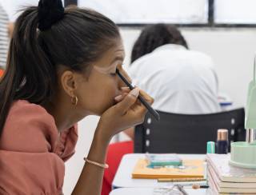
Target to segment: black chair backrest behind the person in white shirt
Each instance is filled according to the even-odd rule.
[[[135,127],[134,153],[206,153],[206,142],[216,141],[218,129],[229,130],[230,142],[246,139],[243,108],[210,114],[159,114],[160,121],[147,113],[144,123]]]

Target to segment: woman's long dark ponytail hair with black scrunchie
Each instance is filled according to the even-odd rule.
[[[94,10],[64,9],[62,0],[40,0],[26,8],[15,22],[0,82],[0,136],[13,101],[50,101],[58,65],[89,71],[118,38],[118,26]]]

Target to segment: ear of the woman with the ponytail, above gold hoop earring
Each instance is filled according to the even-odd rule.
[[[74,72],[70,70],[65,70],[61,76],[61,86],[63,90],[68,94],[70,97],[74,97],[74,91],[77,90],[77,77]]]

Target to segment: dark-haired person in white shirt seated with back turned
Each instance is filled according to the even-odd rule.
[[[212,59],[189,50],[175,26],[146,26],[134,43],[128,72],[134,84],[155,99],[154,109],[187,114],[221,111]]]

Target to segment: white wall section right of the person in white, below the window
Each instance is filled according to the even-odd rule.
[[[204,51],[214,59],[220,92],[229,94],[235,107],[244,106],[253,77],[256,30],[184,30],[184,35],[192,49]]]

